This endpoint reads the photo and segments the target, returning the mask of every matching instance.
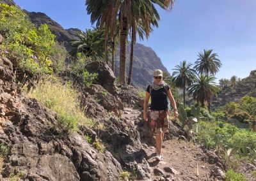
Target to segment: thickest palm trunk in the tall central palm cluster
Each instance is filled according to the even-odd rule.
[[[122,17],[120,28],[120,66],[119,66],[119,83],[126,83],[126,49],[127,49],[127,17]]]

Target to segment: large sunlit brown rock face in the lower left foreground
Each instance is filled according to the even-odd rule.
[[[0,68],[0,143],[10,147],[1,179],[22,172],[29,180],[118,180],[121,165],[108,151],[81,131],[61,138],[56,114],[17,93],[12,62],[0,58]]]

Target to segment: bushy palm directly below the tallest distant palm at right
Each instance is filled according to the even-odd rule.
[[[201,103],[201,106],[205,106],[205,102],[208,103],[208,109],[210,110],[210,101],[213,96],[217,96],[220,88],[214,82],[216,78],[212,75],[198,75],[195,78],[195,82],[189,87],[188,94],[193,95],[193,98],[197,103]]]

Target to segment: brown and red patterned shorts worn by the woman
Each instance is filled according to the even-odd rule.
[[[169,127],[168,110],[151,111],[151,129],[152,133],[159,135],[165,133]]]

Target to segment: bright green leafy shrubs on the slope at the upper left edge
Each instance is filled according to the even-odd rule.
[[[29,73],[52,73],[54,35],[47,25],[35,27],[17,6],[0,4],[0,33],[4,55]]]

